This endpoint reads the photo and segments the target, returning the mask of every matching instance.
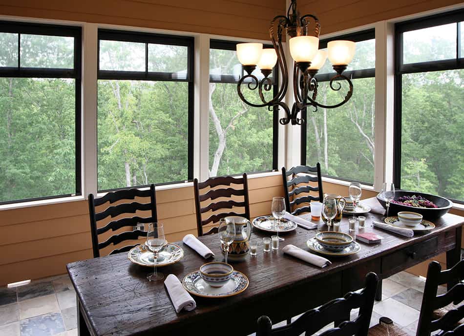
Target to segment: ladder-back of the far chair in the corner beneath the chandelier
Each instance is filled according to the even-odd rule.
[[[315,167],[296,166],[289,170],[282,167],[282,180],[284,185],[285,206],[287,207],[287,211],[294,215],[311,211],[310,205],[298,207],[301,203],[309,204],[311,201],[322,202],[324,199],[319,163],[317,163]],[[309,182],[317,182],[317,187],[309,185]],[[298,186],[299,184],[304,185]],[[309,193],[311,191],[317,191],[317,196],[304,195],[296,197],[298,194],[303,192]]]

